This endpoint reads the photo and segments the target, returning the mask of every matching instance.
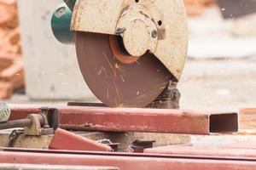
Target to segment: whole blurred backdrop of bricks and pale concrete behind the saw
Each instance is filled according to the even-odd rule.
[[[236,1],[244,14],[230,13],[237,12],[235,0],[184,0],[189,51],[178,83],[182,109],[236,111],[256,105],[256,8]],[[0,99],[45,105],[97,101],[79,71],[74,47],[57,42],[51,32],[58,3],[0,0]]]

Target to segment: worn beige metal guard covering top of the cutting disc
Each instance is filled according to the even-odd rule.
[[[158,33],[153,54],[179,81],[188,48],[183,0],[77,0],[71,30],[116,35],[122,16],[134,6],[150,14]]]

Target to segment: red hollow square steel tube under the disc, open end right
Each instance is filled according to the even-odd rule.
[[[60,108],[61,127],[104,132],[236,133],[236,113],[159,109]]]

